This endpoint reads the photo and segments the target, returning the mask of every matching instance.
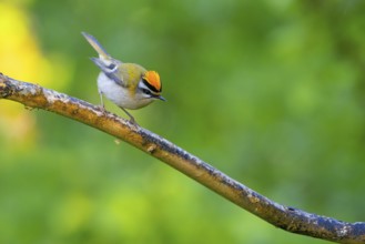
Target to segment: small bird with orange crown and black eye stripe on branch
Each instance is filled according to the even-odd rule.
[[[99,58],[91,60],[101,69],[98,77],[98,90],[101,108],[104,110],[103,95],[121,108],[132,123],[134,118],[125,110],[141,109],[154,100],[165,101],[161,96],[162,83],[155,71],[148,71],[135,63],[124,63],[113,59],[99,41],[82,32],[92,48],[99,53]]]

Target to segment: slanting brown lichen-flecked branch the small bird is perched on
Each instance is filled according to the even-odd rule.
[[[43,109],[93,126],[161,160],[226,200],[285,231],[338,243],[365,243],[365,223],[346,223],[277,204],[170,141],[95,105],[0,73],[0,99]]]

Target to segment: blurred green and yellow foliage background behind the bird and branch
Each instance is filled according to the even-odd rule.
[[[278,203],[365,221],[364,11],[361,0],[2,0],[0,72],[97,104],[87,31],[159,71],[168,102],[132,111],[142,126]],[[0,243],[326,242],[108,134],[0,100]]]

